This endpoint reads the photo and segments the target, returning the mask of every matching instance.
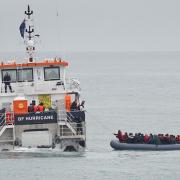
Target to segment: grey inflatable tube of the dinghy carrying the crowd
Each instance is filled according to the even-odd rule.
[[[130,144],[121,143],[117,139],[113,139],[110,145],[115,150],[180,150],[180,144]]]

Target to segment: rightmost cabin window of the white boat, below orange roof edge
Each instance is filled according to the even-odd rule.
[[[44,68],[44,80],[59,80],[60,79],[60,69],[59,67],[45,67]]]

